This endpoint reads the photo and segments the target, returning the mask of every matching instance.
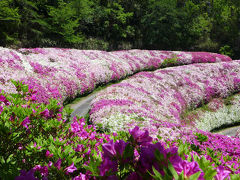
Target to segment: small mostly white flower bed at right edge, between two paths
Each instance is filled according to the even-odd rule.
[[[211,131],[222,125],[232,125],[240,122],[240,93],[225,99],[214,98],[203,107],[186,112],[184,121],[195,121],[196,127]]]

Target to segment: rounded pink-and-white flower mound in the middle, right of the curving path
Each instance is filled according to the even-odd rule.
[[[108,87],[92,101],[90,119],[111,131],[142,126],[152,134],[160,122],[189,124],[181,115],[214,97],[228,97],[240,91],[240,61],[193,64],[140,72]],[[224,122],[219,121],[218,126]],[[208,125],[211,130],[216,125]]]

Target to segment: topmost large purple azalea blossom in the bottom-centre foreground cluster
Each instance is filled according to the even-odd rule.
[[[152,142],[152,137],[149,136],[149,132],[141,131],[138,126],[134,129],[129,130],[129,133],[132,135],[133,139],[138,145],[147,145]]]

